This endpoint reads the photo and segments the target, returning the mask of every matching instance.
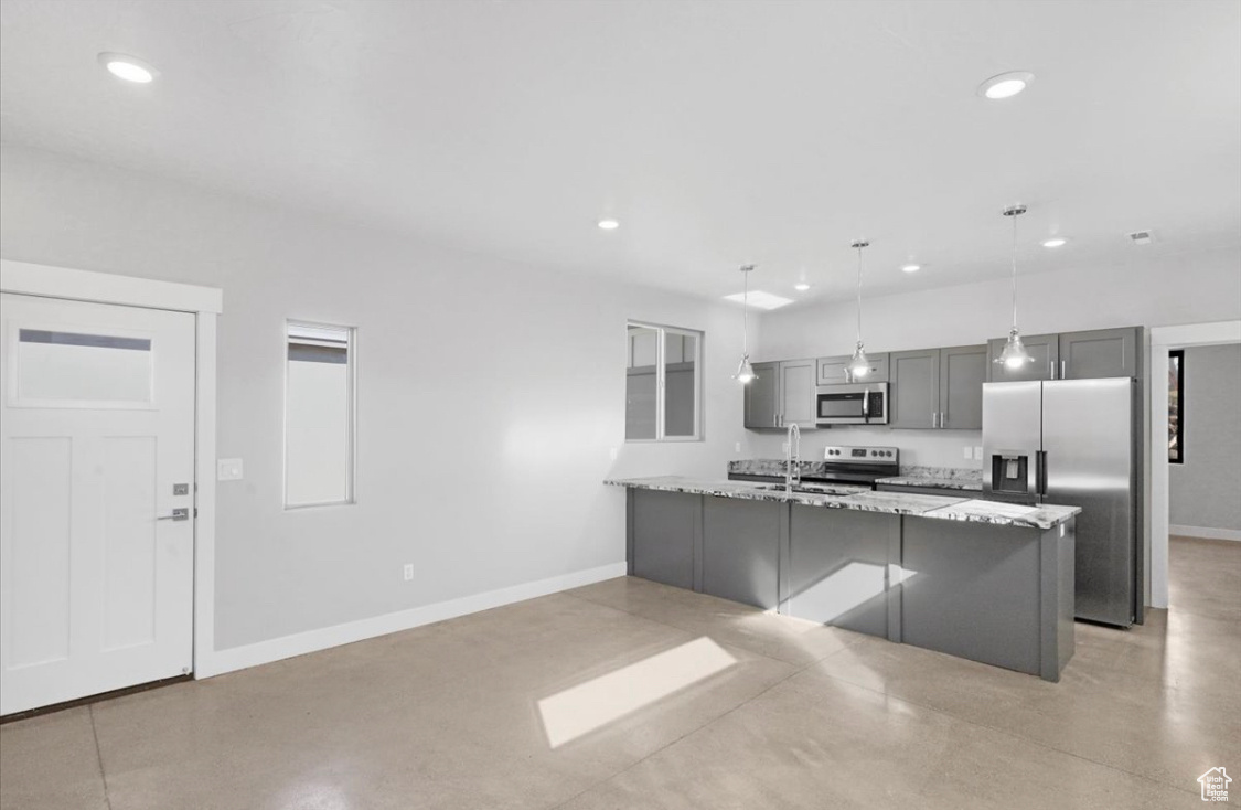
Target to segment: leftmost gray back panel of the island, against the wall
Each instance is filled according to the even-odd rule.
[[[694,543],[702,496],[629,489],[629,573],[665,585],[694,588]]]

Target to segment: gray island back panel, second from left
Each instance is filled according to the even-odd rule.
[[[702,593],[774,608],[779,537],[787,507],[773,501],[702,498]]]

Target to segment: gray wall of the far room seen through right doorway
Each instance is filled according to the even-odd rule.
[[[1172,526],[1241,532],[1239,403],[1241,344],[1185,349],[1185,462],[1168,465]]]

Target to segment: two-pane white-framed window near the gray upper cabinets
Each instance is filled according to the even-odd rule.
[[[630,323],[625,441],[701,439],[702,333]]]

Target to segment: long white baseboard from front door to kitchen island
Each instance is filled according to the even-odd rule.
[[[210,678],[225,672],[235,672],[261,663],[271,663],[272,661],[292,658],[308,652],[336,647],[343,644],[352,644],[354,641],[410,630],[411,627],[429,625],[446,619],[455,619],[457,616],[464,616],[480,610],[510,605],[526,599],[534,599],[535,596],[546,596],[547,594],[555,594],[571,588],[601,583],[606,579],[624,576],[624,563],[612,563],[609,565],[573,571],[572,574],[562,574],[483,594],[441,601],[433,605],[411,608],[410,610],[395,614],[383,614],[382,616],[361,619],[320,630],[308,630],[307,632],[258,641],[241,647],[216,650],[206,661],[195,661],[194,677]]]

